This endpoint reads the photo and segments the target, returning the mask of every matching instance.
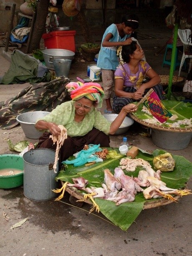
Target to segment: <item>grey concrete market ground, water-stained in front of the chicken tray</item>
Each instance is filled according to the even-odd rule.
[[[80,38],[77,33],[77,38]],[[164,52],[159,56],[154,53],[167,41],[170,31],[162,26],[161,29],[149,28],[142,30],[144,39],[139,43],[144,49],[147,61],[158,74],[169,74],[169,66],[162,68]],[[149,38],[146,35],[151,35]],[[99,37],[99,36],[98,36]],[[101,38],[101,36],[100,36]],[[76,42],[77,44],[79,43]],[[1,51],[3,49],[1,48]],[[180,53],[181,54],[181,53]],[[94,62],[81,62],[81,56],[71,65],[69,78],[86,77],[87,65]],[[0,76],[8,71],[10,62],[0,55]],[[174,71],[174,75],[178,70]],[[187,73],[182,72],[186,77]],[[15,96],[29,84],[0,85],[0,101]],[[173,86],[173,90],[180,90]],[[101,109],[103,113],[105,104]],[[22,129],[15,127],[11,130],[0,129],[0,154],[12,154],[6,140],[13,143],[28,139]],[[151,137],[141,137],[139,132],[146,132],[139,124],[134,123],[126,134],[110,136],[111,147],[118,147],[122,137],[128,137],[129,142],[143,150],[155,150],[158,147]],[[30,142],[37,140],[28,139]],[[169,150],[174,155],[182,155],[191,160],[192,142],[183,150]],[[192,188],[191,180],[188,188]],[[181,198],[178,203],[142,210],[127,232],[109,223],[104,215],[89,214],[90,206],[84,204],[76,208],[68,200],[68,193],[61,201],[49,200],[35,202],[23,195],[23,186],[14,189],[0,190],[0,255],[2,256],[45,256],[45,255],[162,255],[189,256],[191,247],[191,196]],[[7,220],[4,218],[6,215]],[[28,218],[21,227],[10,227]]]

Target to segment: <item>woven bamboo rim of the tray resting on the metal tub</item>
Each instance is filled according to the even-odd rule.
[[[186,128],[181,128],[181,127],[164,127],[164,126],[160,126],[160,125],[157,125],[157,124],[150,124],[148,122],[145,122],[144,120],[141,120],[141,119],[137,118],[132,113],[129,113],[129,115],[130,115],[130,117],[132,119],[134,119],[139,124],[142,124],[142,125],[145,125],[147,127],[154,128],[154,129],[157,129],[157,130],[162,130],[162,131],[166,131],[166,132],[192,132],[192,127],[186,127]]]

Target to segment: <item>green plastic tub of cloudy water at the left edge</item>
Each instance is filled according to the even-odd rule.
[[[17,188],[23,185],[23,172],[15,175],[3,176],[1,170],[15,168],[23,170],[23,157],[19,155],[0,155],[0,188]]]

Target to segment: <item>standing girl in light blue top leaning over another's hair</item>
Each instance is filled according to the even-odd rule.
[[[104,99],[106,100],[105,113],[112,112],[110,98],[114,85],[114,72],[119,65],[116,56],[117,46],[129,45],[132,42],[131,33],[138,26],[139,22],[136,15],[126,15],[122,18],[121,23],[111,24],[103,35],[97,66],[101,68],[102,72]]]

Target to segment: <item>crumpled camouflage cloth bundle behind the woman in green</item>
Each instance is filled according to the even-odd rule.
[[[25,112],[51,112],[66,101],[68,82],[68,78],[60,76],[48,83],[30,85],[15,97],[0,101],[0,128],[11,129],[17,126],[19,122],[16,117]]]

